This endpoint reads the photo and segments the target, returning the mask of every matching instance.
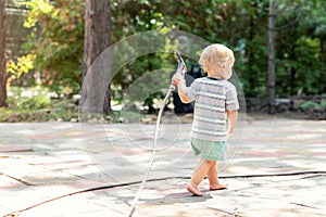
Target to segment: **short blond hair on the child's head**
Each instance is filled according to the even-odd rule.
[[[213,43],[208,46],[199,58],[199,63],[206,73],[216,74],[216,68],[221,64],[229,62],[230,66],[235,63],[234,52],[224,44]]]

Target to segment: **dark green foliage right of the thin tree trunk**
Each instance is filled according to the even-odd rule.
[[[277,31],[277,64],[276,84],[277,93],[281,97],[296,94],[322,94],[326,91],[325,50],[322,44],[325,40],[322,35],[314,33],[324,24],[325,7],[317,7],[321,1],[297,3],[297,11],[283,13],[278,18],[278,26],[297,21],[294,25]],[[287,7],[284,2],[283,8]]]

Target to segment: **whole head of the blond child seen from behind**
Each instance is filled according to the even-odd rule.
[[[209,76],[228,79],[233,75],[231,67],[235,63],[234,52],[221,43],[208,46],[199,58],[203,71]]]

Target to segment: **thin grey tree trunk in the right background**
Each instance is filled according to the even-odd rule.
[[[268,18],[268,102],[269,114],[275,113],[275,1],[269,0]]]

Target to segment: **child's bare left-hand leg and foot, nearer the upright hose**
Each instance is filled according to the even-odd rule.
[[[195,169],[191,182],[187,186],[187,190],[198,196],[202,196],[203,193],[200,192],[197,187],[198,184],[203,180],[203,178],[206,176],[211,165],[213,164],[213,161],[206,161],[202,159],[199,164],[199,166]]]

